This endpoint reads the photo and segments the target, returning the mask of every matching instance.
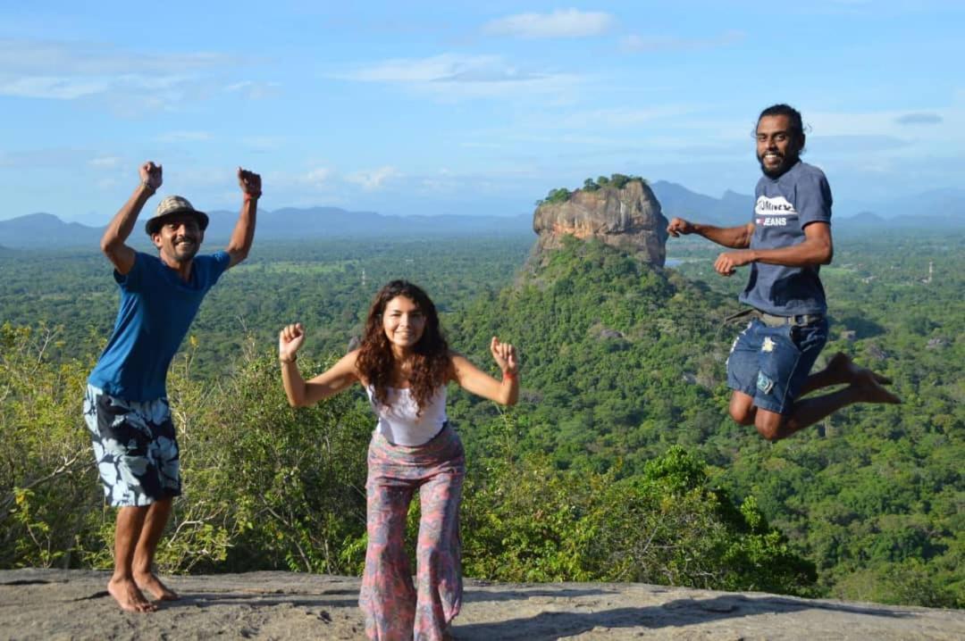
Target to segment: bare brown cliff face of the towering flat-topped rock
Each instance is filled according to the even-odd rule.
[[[621,189],[577,190],[565,202],[544,202],[533,214],[537,251],[556,249],[565,235],[598,238],[655,265],[667,258],[668,221],[648,185],[631,180]]]

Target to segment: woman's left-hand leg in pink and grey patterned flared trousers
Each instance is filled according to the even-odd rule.
[[[370,639],[412,638],[416,592],[404,544],[405,517],[412,494],[411,484],[381,475],[370,460],[366,524],[369,545],[359,595]]]

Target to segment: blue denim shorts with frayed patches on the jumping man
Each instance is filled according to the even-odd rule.
[[[728,387],[752,396],[761,410],[790,414],[827,341],[827,318],[780,327],[768,327],[755,318],[731,346]]]

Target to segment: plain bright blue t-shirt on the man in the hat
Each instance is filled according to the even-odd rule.
[[[138,252],[125,276],[115,270],[121,308],[88,383],[128,401],[166,397],[168,366],[207,290],[230,263],[227,252],[196,256],[185,282],[157,256]]]

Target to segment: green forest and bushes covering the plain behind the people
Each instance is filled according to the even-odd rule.
[[[662,270],[571,242],[522,272],[528,244],[503,239],[260,247],[212,291],[172,372],[187,494],[178,522],[198,526],[177,530],[165,567],[358,571],[365,400],[287,409],[270,353],[278,327],[302,320],[316,358],[303,367],[323,366],[358,332],[374,290],[405,277],[427,287],[474,361],[489,366],[493,334],[522,353],[523,400],[510,412],[453,394],[469,452],[467,574],[961,607],[961,239],[836,240],[822,269],[825,354],[873,364],[905,403],[849,408],[773,445],[726,414],[735,328],[719,319],[742,283],[716,277],[706,244],[672,245],[684,262]],[[104,567],[112,521],[78,390],[116,313],[109,268],[94,252],[0,260],[0,487],[15,489],[0,496],[0,559]],[[243,473],[229,479],[217,461]],[[643,531],[668,544],[632,548],[626,535]],[[706,565],[688,574],[680,559],[695,555]]]

